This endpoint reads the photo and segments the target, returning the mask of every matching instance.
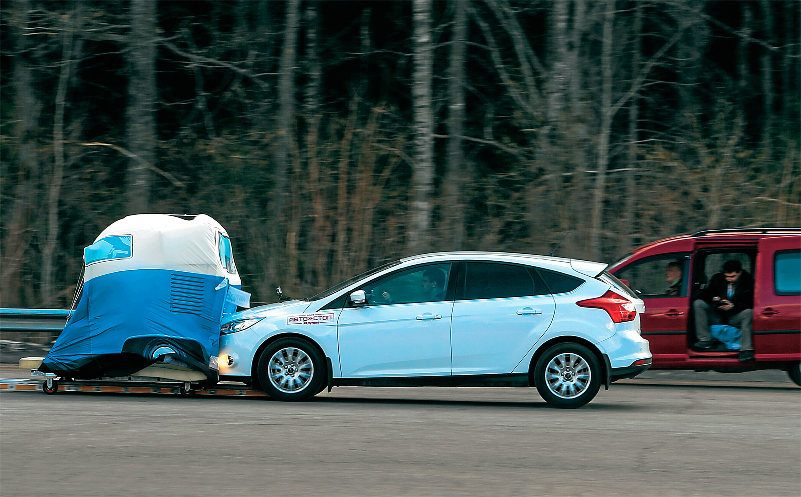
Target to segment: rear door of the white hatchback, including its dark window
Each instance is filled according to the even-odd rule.
[[[533,268],[462,263],[453,303],[453,375],[511,373],[553,321],[553,296]]]

